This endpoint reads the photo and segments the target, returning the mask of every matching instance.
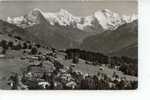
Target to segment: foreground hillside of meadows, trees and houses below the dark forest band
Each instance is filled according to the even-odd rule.
[[[50,84],[54,84],[53,82],[57,83],[57,80],[59,80],[60,81],[59,84],[63,84],[65,85],[65,87],[55,86],[53,88],[51,87],[51,88],[46,88],[46,89],[54,89],[54,90],[55,89],[56,90],[58,89],[95,89],[93,87],[94,84],[92,84],[92,87],[84,87],[82,86],[82,82],[86,81],[84,80],[84,77],[89,77],[89,78],[91,77],[91,80],[93,80],[92,77],[94,75],[96,75],[96,77],[100,77],[103,79],[103,77],[97,76],[98,73],[102,76],[105,76],[105,78],[107,78],[108,80],[110,79],[112,80],[112,81],[107,81],[107,84],[114,81],[113,80],[114,73],[116,73],[119,76],[119,79],[125,78],[126,81],[128,82],[131,82],[131,83],[135,82],[135,84],[133,84],[132,87],[126,87],[126,89],[137,88],[136,76],[124,74],[123,72],[119,71],[116,68],[110,68],[107,64],[95,65],[93,62],[90,62],[84,59],[79,59],[78,63],[74,64],[72,58],[66,59],[67,54],[65,52],[57,50],[57,49],[53,50],[52,48],[47,49],[45,47],[37,48],[37,53],[33,54],[32,50],[36,46],[35,43],[31,43],[25,40],[18,40],[15,37],[12,37],[12,36],[10,37],[8,34],[0,34],[0,44],[1,44],[0,51],[3,50],[3,45],[4,45],[4,44],[2,45],[2,42],[1,42],[2,40],[5,40],[7,42],[13,42],[13,44],[8,45],[8,48],[5,54],[2,54],[2,53],[0,54],[0,63],[1,63],[0,64],[0,88],[1,89],[5,89],[5,90],[25,89],[25,88],[36,89],[36,90],[45,89],[41,86],[37,87],[38,86],[37,83],[40,83],[41,81],[47,82],[46,81],[47,77],[49,80],[48,82],[50,82]],[[23,43],[26,43],[27,45],[24,46]],[[20,44],[21,44],[21,47],[20,47]],[[42,62],[42,65],[40,64],[41,62]],[[28,72],[27,69],[29,69],[30,66],[33,67],[33,69],[31,70],[31,72]],[[43,69],[44,72],[41,69]],[[39,71],[39,70],[40,72],[38,72],[38,77],[37,76],[34,77],[34,74],[36,74],[36,71]],[[33,76],[30,76],[30,73],[32,73]],[[53,79],[51,79],[50,76],[44,76],[45,75],[44,73],[51,73],[50,75],[54,75]],[[43,75],[42,77],[40,76],[41,74]],[[11,80],[11,77],[14,77],[14,75],[18,75],[17,80],[19,81],[19,83],[17,87],[13,87],[9,85],[9,83],[14,82],[14,80]],[[74,76],[74,75],[77,75],[77,76]],[[24,79],[23,76],[26,78]],[[39,77],[41,78],[39,79]],[[72,85],[70,86],[68,84],[73,84],[76,87],[74,88]],[[91,81],[88,84],[91,84]],[[116,83],[114,82],[114,84]],[[102,84],[99,84],[99,85],[102,85]],[[123,89],[123,88],[124,87],[121,88],[117,86],[112,88],[111,86],[107,87],[106,85],[104,86],[102,85],[102,87],[99,87],[98,89]]]

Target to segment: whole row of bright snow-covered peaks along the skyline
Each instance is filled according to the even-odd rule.
[[[94,27],[96,29],[99,27],[104,30],[113,30],[122,24],[130,23],[136,19],[136,15],[120,15],[108,9],[98,10],[91,16],[78,17],[72,15],[65,9],[60,9],[58,12],[43,12],[35,8],[25,16],[15,18],[8,17],[7,21],[21,27],[30,27],[34,24],[47,21],[50,25],[57,23],[61,26],[71,26],[80,30],[85,30],[87,29],[86,27],[91,27],[92,30],[95,30]]]

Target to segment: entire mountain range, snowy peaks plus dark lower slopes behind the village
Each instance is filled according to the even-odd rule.
[[[137,52],[134,48],[137,47],[137,15],[120,15],[103,9],[79,17],[64,9],[52,13],[36,8],[20,17],[8,17],[6,22],[11,25],[0,27],[0,31],[16,25],[27,39],[58,49],[80,48],[116,55],[126,54],[123,50]]]

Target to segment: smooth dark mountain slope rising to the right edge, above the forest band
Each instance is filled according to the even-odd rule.
[[[117,54],[116,51],[118,53],[124,52],[122,50],[127,49],[130,45],[137,45],[137,39],[138,24],[136,20],[132,23],[124,24],[114,31],[106,31],[98,35],[89,36],[83,41],[81,48],[105,54],[112,54],[113,52]],[[130,49],[127,49],[126,53],[128,53],[127,51],[130,52]]]

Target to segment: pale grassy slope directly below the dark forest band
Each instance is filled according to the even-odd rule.
[[[72,64],[71,60],[64,60],[64,56],[62,56],[62,55],[58,55],[58,58],[59,58],[58,60],[66,66],[70,66]],[[94,65],[85,64],[85,61],[80,59],[79,64],[76,65],[74,70],[81,71],[84,74],[88,73],[90,75],[96,75],[97,72],[100,72],[100,73],[104,73],[104,74],[108,75],[109,77],[112,77],[113,72],[115,71],[120,77],[126,77],[127,80],[137,80],[136,77],[124,75],[122,72],[117,71],[115,69],[110,69],[108,67],[105,67],[104,70],[100,71],[99,67],[100,67],[99,65],[94,66]]]

